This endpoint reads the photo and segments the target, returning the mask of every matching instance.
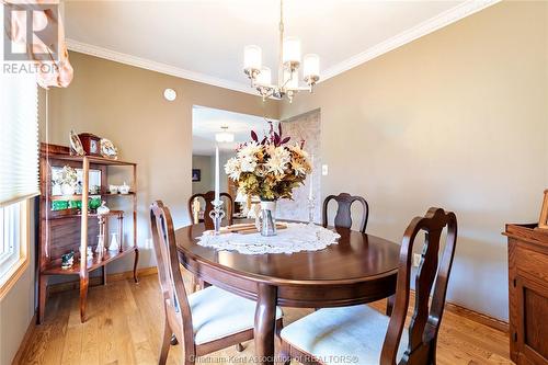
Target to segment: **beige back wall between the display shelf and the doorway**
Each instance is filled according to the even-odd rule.
[[[75,80],[68,89],[52,89],[48,140],[68,144],[68,133],[91,132],[111,139],[119,157],[138,163],[140,266],[150,266],[147,209],[163,199],[175,227],[189,224],[192,193],[192,105],[278,117],[278,105],[261,98],[193,82],[78,53],[70,54]],[[172,88],[174,102],[163,99]],[[42,126],[45,140],[46,128]],[[132,259],[113,270],[129,270]]]

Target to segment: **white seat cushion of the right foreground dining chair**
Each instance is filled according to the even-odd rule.
[[[320,309],[282,330],[282,339],[324,364],[378,365],[389,317],[368,306]],[[396,363],[403,356],[403,330]]]

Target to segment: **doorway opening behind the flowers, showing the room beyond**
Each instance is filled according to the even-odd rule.
[[[235,182],[226,174],[225,164],[236,156],[239,145],[251,140],[251,130],[262,135],[269,132],[269,122],[277,128],[282,123],[284,136],[290,144],[305,140],[305,149],[313,155],[312,189],[316,197],[315,219],[320,220],[321,210],[321,153],[320,153],[320,111],[312,111],[287,121],[266,119],[256,115],[235,113],[225,110],[194,105],[192,110],[192,194],[206,194],[215,190],[215,150],[219,148],[219,190],[230,195],[235,202],[233,217],[246,218],[246,199],[238,194]],[[282,199],[277,204],[278,219],[308,219],[308,181],[294,190],[294,198]],[[205,202],[198,201],[193,221],[203,220]],[[226,205],[225,205],[226,206]],[[225,224],[225,223],[224,223]]]

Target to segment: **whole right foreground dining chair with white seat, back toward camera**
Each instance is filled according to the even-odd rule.
[[[445,249],[438,262],[445,228]],[[404,329],[413,244],[421,231],[425,238],[415,276],[414,309]],[[284,358],[300,358],[306,364],[340,364],[342,360],[359,365],[435,364],[456,240],[457,218],[452,212],[430,208],[424,217],[411,220],[401,242],[391,316],[366,305],[320,309],[282,330]]]

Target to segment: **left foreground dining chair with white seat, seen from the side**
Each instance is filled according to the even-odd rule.
[[[165,322],[159,364],[165,364],[172,335],[184,343],[184,364],[253,339],[255,303],[209,286],[186,295],[179,269],[175,232],[170,209],[161,201],[150,206],[150,229],[158,262]],[[276,307],[276,328],[283,327],[282,309]]]

